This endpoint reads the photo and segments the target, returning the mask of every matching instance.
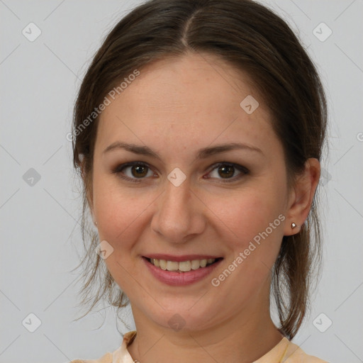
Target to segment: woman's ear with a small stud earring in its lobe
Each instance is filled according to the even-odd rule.
[[[295,235],[301,230],[301,225],[305,223],[311,210],[319,179],[320,162],[312,157],[306,161],[303,173],[298,176],[291,190],[284,235]],[[295,223],[296,227],[292,228],[291,223]]]

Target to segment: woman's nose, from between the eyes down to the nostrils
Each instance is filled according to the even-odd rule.
[[[206,228],[205,206],[191,190],[188,179],[179,186],[167,180],[164,192],[155,203],[151,227],[167,242],[187,242]]]

